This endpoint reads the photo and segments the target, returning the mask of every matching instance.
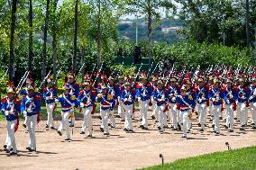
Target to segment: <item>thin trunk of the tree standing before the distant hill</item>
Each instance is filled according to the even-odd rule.
[[[148,40],[149,40],[149,68],[151,68],[151,57],[152,57],[152,49],[151,49],[151,37],[152,37],[152,13],[151,13],[151,0],[148,0]]]

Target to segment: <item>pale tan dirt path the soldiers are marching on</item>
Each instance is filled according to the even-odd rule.
[[[251,130],[251,126],[242,132],[236,124],[233,133],[227,132],[222,126],[221,136],[215,136],[212,128],[199,132],[197,121],[193,120],[193,130],[188,134],[188,139],[182,139],[181,131],[169,129],[160,135],[152,120],[149,121],[150,130],[139,129],[139,122],[134,121],[136,133],[125,133],[123,122],[118,119],[116,121],[117,129],[110,130],[110,137],[104,137],[99,131],[100,121],[94,119],[93,139],[87,139],[85,135],[79,134],[82,121],[76,121],[71,142],[63,142],[64,137],[59,137],[56,130],[46,131],[45,121],[41,121],[37,127],[35,153],[26,151],[29,134],[20,126],[15,133],[18,156],[7,157],[1,146],[0,169],[135,169],[160,164],[160,154],[165,157],[165,162],[170,162],[178,158],[226,150],[227,141],[231,148],[256,145],[256,130]],[[59,126],[59,121],[55,123]],[[5,134],[5,121],[2,121],[2,144],[5,142]]]

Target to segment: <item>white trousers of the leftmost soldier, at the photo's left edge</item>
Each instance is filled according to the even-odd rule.
[[[13,148],[13,152],[17,153],[17,146],[15,142],[15,136],[14,136],[14,127],[17,123],[17,120],[14,121],[6,121],[7,125],[7,149]]]

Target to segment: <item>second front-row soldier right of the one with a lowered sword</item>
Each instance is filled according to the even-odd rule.
[[[104,132],[104,135],[109,135],[108,130],[108,116],[110,112],[113,111],[115,100],[112,94],[108,94],[108,89],[106,85],[101,85],[101,93],[97,94],[96,102],[100,103],[101,107],[101,117],[102,117],[102,126],[101,130]]]

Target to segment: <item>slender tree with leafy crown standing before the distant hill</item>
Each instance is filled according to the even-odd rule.
[[[163,18],[160,10],[166,10],[166,15],[169,17],[176,12],[176,6],[169,0],[126,0],[126,4],[126,13],[137,13],[148,21],[148,57],[151,67],[153,22],[157,25]]]

